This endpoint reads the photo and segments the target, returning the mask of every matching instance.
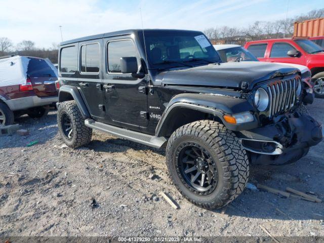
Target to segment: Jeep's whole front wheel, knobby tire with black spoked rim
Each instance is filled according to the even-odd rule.
[[[178,128],[168,141],[166,158],[177,189],[202,208],[229,204],[249,179],[246,151],[235,134],[216,121],[199,120]]]

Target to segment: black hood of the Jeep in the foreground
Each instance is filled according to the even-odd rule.
[[[248,89],[257,83],[274,77],[299,72],[298,68],[270,62],[225,62],[165,71],[157,74],[153,81],[161,85],[211,86],[240,88],[247,82]]]

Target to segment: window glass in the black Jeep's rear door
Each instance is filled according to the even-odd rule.
[[[81,71],[99,72],[100,48],[98,43],[87,44],[81,47]]]

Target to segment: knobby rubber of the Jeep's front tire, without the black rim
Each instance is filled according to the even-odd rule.
[[[218,171],[217,186],[210,194],[200,195],[185,185],[176,171],[176,150],[192,141],[209,151]],[[180,193],[191,203],[206,209],[224,207],[245,188],[249,179],[249,159],[235,134],[223,124],[199,120],[178,128],[166,148],[169,175]]]

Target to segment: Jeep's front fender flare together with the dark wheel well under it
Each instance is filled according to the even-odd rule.
[[[257,127],[257,120],[247,124],[227,123],[225,114],[236,114],[253,110],[246,99],[208,94],[180,94],[168,104],[155,129],[156,137],[170,137],[179,127],[193,121],[210,119],[232,131],[248,130]]]

